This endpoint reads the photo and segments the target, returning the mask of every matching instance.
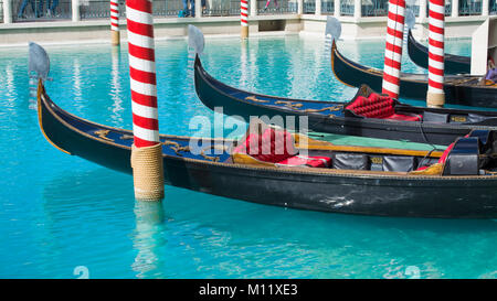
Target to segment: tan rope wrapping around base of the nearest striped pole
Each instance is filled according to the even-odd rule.
[[[160,201],[163,198],[162,143],[152,147],[131,147],[135,198]]]

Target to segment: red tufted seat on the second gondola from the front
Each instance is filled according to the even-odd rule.
[[[357,96],[346,110],[353,112],[356,116],[366,118],[404,120],[404,121],[420,121],[419,115],[395,114],[395,100],[389,96],[371,93],[368,97]]]

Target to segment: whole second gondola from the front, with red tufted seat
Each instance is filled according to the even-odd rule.
[[[348,103],[289,99],[254,94],[228,86],[202,67],[197,56],[194,63],[195,90],[209,108],[222,107],[226,115],[250,116],[307,116],[307,127],[318,132],[363,136],[390,140],[450,144],[472,129],[497,129],[497,111],[476,111],[447,108],[422,108],[391,100],[394,115],[364,117],[356,104],[378,96],[377,101],[363,103],[363,107],[379,106],[390,100],[376,94],[368,86],[359,88]],[[351,109],[353,108],[353,111]],[[380,107],[379,109],[384,109]],[[372,111],[369,111],[371,116]],[[384,117],[384,118],[383,118]],[[415,121],[421,120],[421,121]],[[296,122],[298,126],[298,122]]]

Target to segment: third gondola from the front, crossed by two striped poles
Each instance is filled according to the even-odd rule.
[[[331,69],[338,80],[347,86],[366,84],[373,90],[381,90],[383,72],[362,66],[345,57],[331,45]],[[482,84],[482,77],[469,75],[445,75],[445,103],[473,107],[497,108],[497,84]],[[427,75],[401,73],[400,97],[426,99]]]

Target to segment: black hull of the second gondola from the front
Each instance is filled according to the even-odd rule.
[[[241,116],[248,121],[252,116],[268,118],[274,117],[295,117],[296,129],[300,129],[299,117],[307,117],[306,126],[318,132],[329,132],[337,135],[350,135],[360,137],[371,137],[390,140],[406,140],[420,143],[433,144],[450,144],[457,137],[467,135],[476,126],[467,125],[436,125],[436,123],[420,123],[412,121],[391,121],[371,118],[351,118],[335,115],[322,114],[306,114],[298,110],[287,109],[284,106],[275,106],[274,101],[271,104],[254,103],[244,99],[244,96],[250,95],[256,99],[274,99],[285,100],[290,103],[298,103],[304,106],[314,104],[315,106],[330,106],[342,105],[343,103],[331,101],[313,101],[302,99],[277,98],[266,95],[252,94],[230,87],[212,76],[203,69],[200,58],[195,60],[194,67],[195,90],[199,99],[210,109],[214,110],[216,107],[222,108],[223,112],[230,116]],[[419,108],[421,111],[423,108]],[[451,109],[431,109],[436,112],[455,114],[462,110]],[[480,128],[497,129],[497,114],[482,112],[496,120],[491,126],[484,126]],[[287,125],[285,125],[287,126]]]

